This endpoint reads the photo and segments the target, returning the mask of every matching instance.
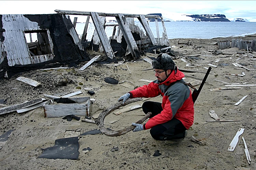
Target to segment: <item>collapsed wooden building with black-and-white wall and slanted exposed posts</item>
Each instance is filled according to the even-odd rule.
[[[170,50],[164,22],[159,16],[55,11],[58,14],[0,15],[0,78],[10,77],[24,69],[42,68],[57,62],[63,64],[89,61],[87,46],[83,45],[89,17],[92,17],[95,26],[89,48],[104,52],[109,61],[114,61],[115,55],[139,59],[141,51],[150,47],[167,47]],[[71,22],[68,15],[88,16],[81,38],[75,30],[75,23]],[[107,25],[105,17],[108,16],[116,17],[118,24]],[[134,23],[134,18],[138,18],[146,34]],[[158,22],[155,38],[146,18],[155,18],[156,21],[161,19],[161,38]],[[107,37],[105,33],[106,26],[114,27],[111,37]]]

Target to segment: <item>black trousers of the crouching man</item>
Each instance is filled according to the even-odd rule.
[[[163,109],[160,102],[144,102],[142,110],[145,114],[152,112],[150,118],[158,115]],[[158,124],[150,129],[151,136],[156,140],[172,140],[185,137],[187,130],[181,121],[176,118],[171,119],[163,124]]]

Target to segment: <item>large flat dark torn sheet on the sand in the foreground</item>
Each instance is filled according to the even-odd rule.
[[[47,159],[78,159],[79,137],[68,137],[55,140],[55,145],[43,149],[39,158]]]

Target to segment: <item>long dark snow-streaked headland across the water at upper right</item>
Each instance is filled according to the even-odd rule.
[[[187,15],[187,17],[195,18],[194,21],[230,22],[223,14]]]

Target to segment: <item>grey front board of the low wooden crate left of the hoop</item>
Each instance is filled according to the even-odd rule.
[[[47,118],[58,118],[67,115],[86,116],[87,104],[53,104],[45,105],[44,115]]]

